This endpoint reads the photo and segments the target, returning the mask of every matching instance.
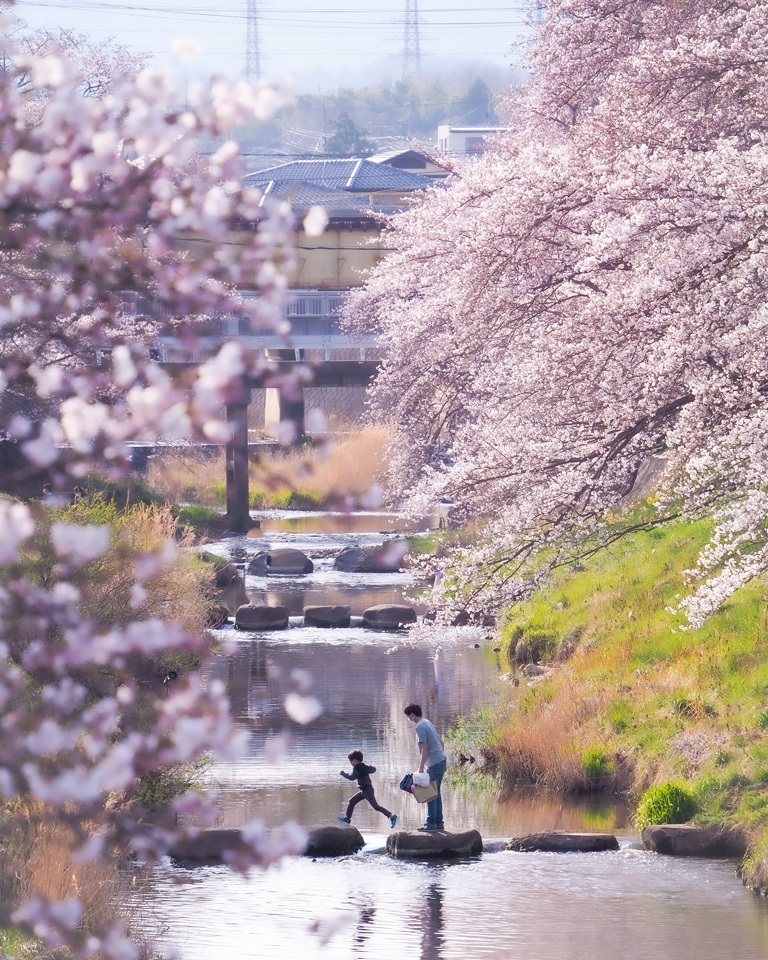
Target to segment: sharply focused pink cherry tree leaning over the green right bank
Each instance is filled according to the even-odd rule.
[[[765,0],[554,0],[512,128],[390,223],[347,317],[387,349],[394,489],[479,525],[438,599],[681,513],[716,521],[692,623],[765,572],[767,54]]]

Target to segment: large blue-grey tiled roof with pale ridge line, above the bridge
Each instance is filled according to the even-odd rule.
[[[300,182],[345,193],[405,193],[423,190],[428,185],[428,181],[418,174],[354,157],[348,160],[293,160],[250,173],[244,182],[254,187],[271,182]]]

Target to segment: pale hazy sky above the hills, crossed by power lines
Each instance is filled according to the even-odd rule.
[[[30,26],[64,26],[173,62],[174,39],[200,53],[189,76],[242,74],[248,8],[257,11],[261,74],[305,89],[356,85],[365,71],[399,79],[406,11],[418,7],[423,73],[488,60],[509,69],[525,34],[526,0],[16,0]],[[180,67],[181,68],[181,67]]]

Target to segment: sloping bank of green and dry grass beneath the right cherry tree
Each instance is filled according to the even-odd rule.
[[[654,785],[681,784],[696,822],[749,831],[746,879],[762,888],[766,584],[686,629],[675,612],[681,574],[707,532],[700,521],[636,534],[562,570],[546,594],[512,610],[501,638],[520,665],[517,696],[465,720],[457,734],[465,750],[497,761],[507,784],[629,792],[638,801]],[[526,677],[526,661],[546,669]]]

